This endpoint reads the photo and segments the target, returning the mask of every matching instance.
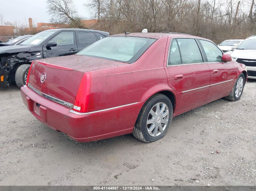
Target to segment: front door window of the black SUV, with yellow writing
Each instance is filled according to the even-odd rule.
[[[57,46],[74,44],[74,33],[71,31],[64,31],[53,37],[50,41],[55,41]]]

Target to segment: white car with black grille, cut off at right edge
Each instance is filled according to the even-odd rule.
[[[256,35],[245,39],[230,55],[234,61],[246,65],[248,78],[256,79]]]

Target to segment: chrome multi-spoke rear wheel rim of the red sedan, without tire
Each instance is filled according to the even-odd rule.
[[[147,118],[148,134],[152,137],[160,135],[166,128],[169,120],[169,110],[165,103],[159,102],[155,104]]]

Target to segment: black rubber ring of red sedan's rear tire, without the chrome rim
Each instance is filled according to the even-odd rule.
[[[148,114],[149,114],[151,108],[156,103],[159,103],[159,102],[163,102],[167,105],[168,110],[169,110],[169,119],[168,119],[167,126],[166,126],[165,130],[161,133],[161,135],[158,135],[157,137],[152,137],[151,135],[148,134],[148,130],[147,130],[147,126],[146,126],[147,118],[148,118]],[[142,124],[141,131],[144,134],[145,139],[147,141],[154,142],[154,141],[157,141],[165,136],[165,134],[170,126],[171,120],[172,120],[172,112],[173,112],[173,109],[172,109],[171,100],[168,97],[166,97],[165,95],[159,96],[159,97],[151,100],[151,102],[149,103],[149,105],[147,106],[147,108],[145,110],[144,115],[142,116],[142,123],[141,123]]]

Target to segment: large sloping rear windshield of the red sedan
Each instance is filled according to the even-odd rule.
[[[77,55],[133,63],[155,41],[156,39],[142,37],[107,37],[86,47]]]

